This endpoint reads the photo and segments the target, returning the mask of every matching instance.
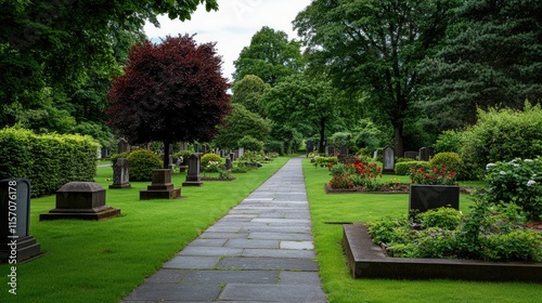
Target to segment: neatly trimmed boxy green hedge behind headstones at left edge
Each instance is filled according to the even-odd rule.
[[[99,147],[88,135],[5,128],[0,130],[0,179],[28,179],[31,197],[53,194],[68,182],[92,182]]]

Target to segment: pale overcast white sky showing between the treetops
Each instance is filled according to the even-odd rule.
[[[217,0],[218,12],[206,12],[199,6],[192,19],[171,21],[159,16],[160,27],[152,24],[144,27],[149,39],[159,41],[166,36],[177,37],[179,34],[197,34],[194,39],[198,43],[217,42],[216,49],[222,56],[222,74],[232,79],[235,70],[233,62],[241,50],[250,44],[250,38],[263,26],[285,31],[289,39],[297,39],[292,29],[292,21],[297,13],[310,4],[310,0]]]

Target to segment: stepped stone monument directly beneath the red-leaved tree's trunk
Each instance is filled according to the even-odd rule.
[[[140,200],[176,199],[181,196],[181,188],[175,188],[171,183],[170,169],[153,170],[153,183],[146,190],[139,192]]]

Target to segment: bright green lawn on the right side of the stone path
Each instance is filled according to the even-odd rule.
[[[309,160],[304,160],[304,173],[320,276],[330,302],[540,302],[542,287],[537,284],[352,279],[343,251],[343,227],[334,223],[404,216],[409,196],[326,195],[324,184],[331,179],[326,169],[314,169]],[[472,205],[467,195],[461,195],[460,206],[464,213],[468,213]]]

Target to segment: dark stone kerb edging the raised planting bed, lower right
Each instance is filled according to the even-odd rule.
[[[542,282],[542,263],[388,258],[363,224],[345,224],[343,246],[352,278]]]

